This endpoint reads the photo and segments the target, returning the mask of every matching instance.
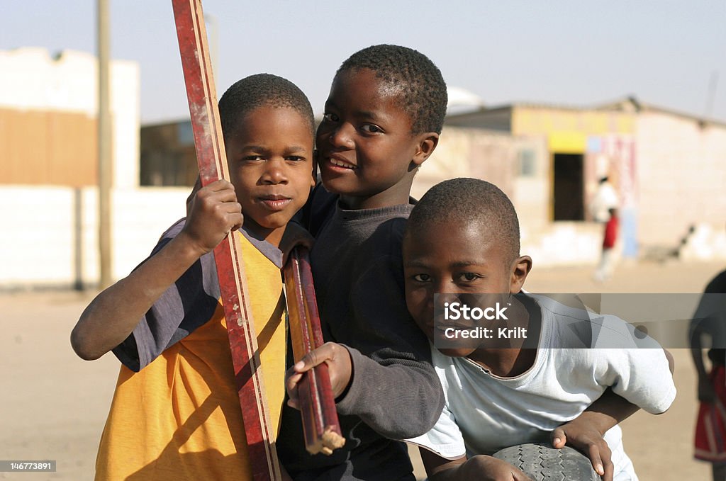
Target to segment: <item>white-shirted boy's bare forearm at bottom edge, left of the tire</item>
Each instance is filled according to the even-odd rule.
[[[419,451],[431,481],[531,481],[520,469],[493,456],[444,459],[428,449]]]

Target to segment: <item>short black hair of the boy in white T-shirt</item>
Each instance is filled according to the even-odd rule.
[[[462,228],[477,226],[482,242],[493,238],[504,248],[507,265],[519,257],[517,212],[507,194],[487,181],[454,178],[431,187],[411,211],[406,235],[432,222],[454,222]]]

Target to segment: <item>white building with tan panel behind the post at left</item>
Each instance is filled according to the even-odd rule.
[[[97,61],[45,49],[0,52],[0,289],[99,279]],[[188,189],[139,187],[139,67],[113,60],[112,271],[126,276]]]

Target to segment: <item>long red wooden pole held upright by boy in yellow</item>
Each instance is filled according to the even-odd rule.
[[[172,0],[202,185],[229,180],[201,0]],[[253,479],[282,480],[237,235],[214,250]]]

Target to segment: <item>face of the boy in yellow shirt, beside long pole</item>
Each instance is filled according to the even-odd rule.
[[[237,120],[224,145],[245,227],[278,245],[315,183],[309,121],[289,107],[258,107]]]

